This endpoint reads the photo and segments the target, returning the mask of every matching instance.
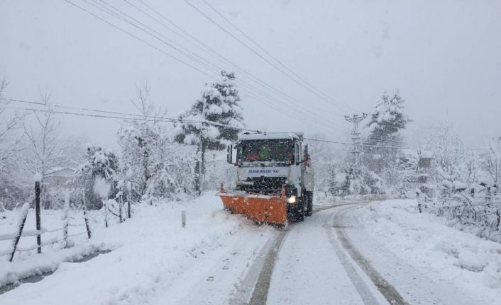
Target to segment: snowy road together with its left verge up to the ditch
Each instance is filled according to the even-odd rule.
[[[143,207],[97,238],[114,251],[62,263],[1,294],[0,304],[495,304],[378,242],[360,220],[367,205],[316,206],[282,230],[228,214],[212,196]],[[187,209],[186,229],[179,209]]]

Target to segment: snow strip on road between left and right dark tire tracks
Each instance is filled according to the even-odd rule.
[[[268,304],[383,304],[378,289],[332,236],[336,209],[290,226],[273,270]]]

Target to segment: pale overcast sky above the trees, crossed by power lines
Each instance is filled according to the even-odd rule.
[[[71,1],[190,62],[86,1]],[[144,8],[137,0],[128,1]],[[485,146],[490,137],[501,135],[499,0],[207,0],[270,54],[326,93],[329,102],[287,79],[185,1],[143,1],[248,73],[302,101],[301,106],[282,101],[289,110],[304,115],[304,120],[298,121],[287,111],[275,109],[283,109],[282,104],[253,100],[255,93],[242,88],[248,127],[324,132],[329,139],[342,139],[351,127],[343,115],[354,110],[368,112],[383,91],[398,89],[407,100],[407,112],[414,120],[409,128],[414,134],[442,120],[453,123],[470,147]],[[246,41],[202,0],[189,1]],[[104,2],[216,66],[235,70],[194,48],[126,1]],[[130,99],[136,84],[148,81],[151,100],[171,116],[189,108],[204,83],[211,81],[62,0],[0,1],[2,74],[10,81],[6,93],[10,98],[39,100],[39,91],[43,90],[60,105],[126,113],[134,111]],[[238,70],[236,76],[248,81]],[[275,108],[265,103],[274,103]],[[346,109],[346,105],[354,110]],[[84,134],[97,144],[116,146],[119,121],[60,118],[65,133]]]

